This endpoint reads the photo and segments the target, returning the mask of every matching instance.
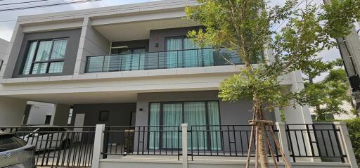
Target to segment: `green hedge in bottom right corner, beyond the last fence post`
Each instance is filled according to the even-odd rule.
[[[347,124],[356,162],[360,163],[360,118],[347,119],[344,122]]]

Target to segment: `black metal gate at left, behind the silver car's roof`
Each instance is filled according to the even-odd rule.
[[[95,127],[1,127],[36,148],[37,167],[91,167]]]

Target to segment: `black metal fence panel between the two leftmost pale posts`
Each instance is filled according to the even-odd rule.
[[[181,155],[178,126],[105,126],[103,158],[108,155]]]

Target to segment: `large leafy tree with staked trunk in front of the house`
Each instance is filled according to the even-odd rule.
[[[226,48],[240,56],[244,64],[238,66],[240,74],[221,83],[219,98],[253,102],[250,124],[256,130],[256,157],[261,167],[269,167],[265,141],[266,127],[271,122],[264,112],[291,102],[307,103],[305,91],[285,91],[278,77],[304,69],[316,60],[316,53],[335,46],[332,38],[349,34],[352,22],[360,18],[360,1],[332,0],[330,5],[316,5],[307,0],[286,0],[283,6],[270,6],[265,0],[198,2],[199,6],[186,8],[186,15],[204,25],[205,30],[188,32],[188,37],[200,47]],[[298,8],[300,4],[304,7]],[[274,29],[283,22],[286,24],[280,30]],[[272,51],[274,61],[264,54],[266,50]]]

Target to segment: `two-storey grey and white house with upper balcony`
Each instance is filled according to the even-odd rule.
[[[95,142],[91,144],[94,147],[94,167],[148,167],[150,162],[151,167],[178,167],[180,161],[164,161],[161,157],[143,160],[139,164],[130,164],[139,162],[130,158],[122,165],[116,163],[119,160],[99,160],[99,157],[107,153],[106,145],[110,146],[108,152],[111,153],[113,146],[130,144],[129,139],[136,142],[124,145],[127,150],[119,150],[124,152],[122,155],[135,150],[139,155],[139,148],[152,150],[153,155],[169,155],[177,149],[175,152],[179,157],[176,146],[181,146],[181,133],[178,131],[181,123],[187,123],[188,129],[200,125],[203,131],[204,128],[217,131],[223,128],[228,134],[198,134],[203,141],[194,140],[194,144],[189,141],[188,146],[193,147],[188,149],[207,154],[212,150],[223,150],[224,153],[230,150],[230,153],[236,151],[236,156],[238,153],[244,155],[248,150],[247,145],[243,146],[248,141],[244,138],[250,136],[250,131],[247,129],[235,134],[238,131],[235,127],[249,128],[252,102],[230,103],[219,100],[217,96],[220,82],[239,72],[222,56],[230,56],[228,59],[238,67],[243,66],[242,61],[225,49],[198,49],[186,37],[189,30],[202,27],[183,19],[184,8],[189,5],[198,4],[188,0],[154,1],[20,16],[9,46],[11,52],[6,53],[4,68],[0,71],[0,126],[19,126],[27,101],[53,103],[51,124],[66,125],[70,116],[70,125],[76,126],[74,130],[79,133],[96,124],[108,124],[108,128],[132,126],[124,127],[126,130],[122,133],[127,133],[124,135],[126,138],[119,134],[115,135],[117,138],[109,135],[94,138]],[[274,60],[271,51],[264,51],[264,56]],[[304,88],[300,72],[290,72],[281,78],[281,84],[292,91]],[[291,106],[284,112],[287,124],[312,123],[307,106]],[[267,117],[281,122],[280,113],[268,112]],[[134,133],[131,128],[136,128],[136,135],[131,134]],[[141,134],[139,130],[142,130]],[[170,134],[170,131],[174,132]],[[93,132],[89,133],[94,137]],[[96,135],[101,134],[103,131],[96,129]],[[233,138],[242,138],[231,140],[230,134]],[[239,139],[242,143],[236,143]],[[188,140],[183,138],[181,142],[184,141]],[[223,143],[222,146],[219,143]],[[283,143],[287,142],[284,140]],[[303,150],[306,144],[298,144],[297,151]],[[96,148],[102,145],[105,148],[98,153]],[[198,163],[198,166],[209,167],[206,164]],[[209,164],[215,167],[229,162],[212,160]],[[238,163],[231,165],[238,167]]]

